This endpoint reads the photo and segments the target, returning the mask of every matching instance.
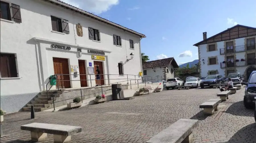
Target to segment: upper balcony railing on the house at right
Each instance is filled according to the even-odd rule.
[[[231,46],[227,48],[220,49],[220,54],[229,54],[229,53],[236,53],[236,52],[244,52],[247,50],[255,50],[256,44],[247,44],[247,45],[241,45],[241,46]]]

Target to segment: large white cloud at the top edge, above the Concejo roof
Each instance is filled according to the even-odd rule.
[[[119,3],[119,0],[86,0],[86,1],[61,0],[61,1],[95,14],[101,14],[102,12],[106,12],[110,10],[112,6],[118,5]]]

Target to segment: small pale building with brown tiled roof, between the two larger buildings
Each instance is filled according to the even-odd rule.
[[[142,63],[144,81],[160,82],[174,78],[177,65],[173,57]]]

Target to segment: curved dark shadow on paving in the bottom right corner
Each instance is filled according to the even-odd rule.
[[[235,133],[226,143],[247,143],[256,142],[256,123],[249,124]]]

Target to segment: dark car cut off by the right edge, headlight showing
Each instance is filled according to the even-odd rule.
[[[256,97],[256,71],[251,72],[248,82],[242,82],[246,85],[243,104],[245,108],[253,108]]]

